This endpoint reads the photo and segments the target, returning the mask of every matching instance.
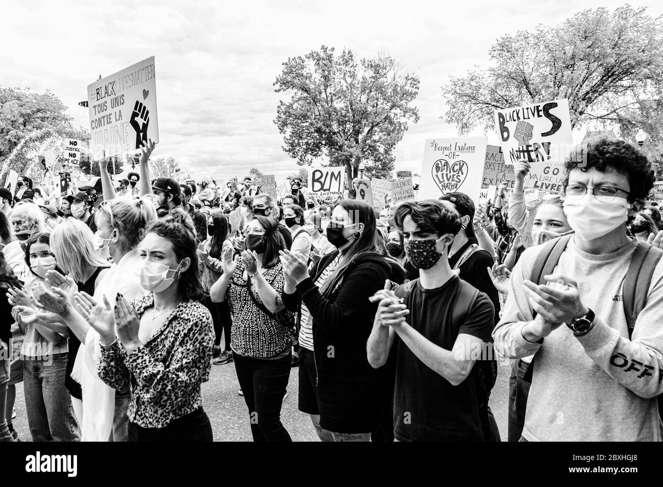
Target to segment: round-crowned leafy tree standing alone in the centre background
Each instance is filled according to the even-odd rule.
[[[288,58],[274,85],[291,94],[274,120],[283,150],[302,166],[326,156],[330,166],[345,166],[348,184],[362,161],[367,171],[391,171],[408,121],[419,120],[410,106],[419,78],[387,54],[357,62],[349,49],[335,56],[322,46]]]

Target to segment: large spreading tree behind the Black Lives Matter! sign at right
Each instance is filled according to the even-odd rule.
[[[477,66],[442,87],[446,121],[461,135],[477,125],[493,131],[495,109],[566,98],[572,127],[611,126],[631,138],[652,125],[662,108],[662,19],[645,11],[601,7],[556,27],[539,25],[499,38],[489,68]]]

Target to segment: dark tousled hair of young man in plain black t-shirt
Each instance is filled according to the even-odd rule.
[[[394,215],[398,230],[403,231],[403,220],[408,215],[420,232],[442,237],[446,233],[456,235],[461,229],[460,215],[447,209],[444,203],[437,199],[401,203]]]

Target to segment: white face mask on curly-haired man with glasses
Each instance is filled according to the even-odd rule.
[[[585,240],[598,239],[619,227],[627,221],[631,207],[633,205],[626,198],[619,196],[609,203],[598,201],[591,194],[564,200],[569,225]]]

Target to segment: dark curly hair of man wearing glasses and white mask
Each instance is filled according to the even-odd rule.
[[[645,199],[656,181],[647,157],[629,142],[615,138],[600,137],[581,142],[566,157],[564,166],[565,188],[569,184],[569,173],[578,166],[581,170],[596,168],[601,172],[611,168],[623,174],[631,186],[631,193],[627,198],[629,203],[636,199]]]

